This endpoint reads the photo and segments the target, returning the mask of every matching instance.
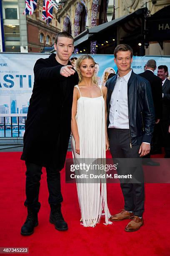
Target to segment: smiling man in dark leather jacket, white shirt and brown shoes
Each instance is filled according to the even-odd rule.
[[[125,231],[138,230],[143,225],[144,182],[141,156],[150,152],[150,142],[155,125],[155,111],[150,83],[135,74],[130,68],[133,50],[126,44],[115,48],[115,64],[118,74],[107,80],[107,131],[112,158],[119,163],[117,173],[130,170],[134,180],[120,179],[125,207],[120,213],[112,215],[110,220],[131,219]],[[120,167],[120,159],[138,159],[135,168]],[[121,161],[121,163],[125,163]],[[124,170],[123,170],[124,169]],[[137,177],[137,178],[136,178]],[[122,178],[122,177],[121,177]]]

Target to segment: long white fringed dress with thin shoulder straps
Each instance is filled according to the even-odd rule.
[[[79,90],[78,85],[75,87]],[[100,159],[102,164],[105,161],[105,101],[100,97],[83,97],[77,100],[77,121],[78,134],[80,138],[80,155],[75,152],[75,140],[71,137],[72,155],[75,164],[80,164],[82,159],[86,162],[91,159]],[[80,160],[81,159],[81,160]],[[103,159],[103,160],[102,160]],[[97,172],[97,171],[96,171]],[[95,174],[97,174],[95,172]],[[98,170],[98,173],[100,171]],[[87,174],[87,172],[84,172]],[[80,172],[82,174],[82,171]],[[78,201],[81,210],[81,220],[85,227],[94,227],[100,222],[101,215],[105,216],[105,225],[112,224],[109,221],[110,212],[107,207],[107,190],[105,179],[94,182],[84,179],[77,182]]]

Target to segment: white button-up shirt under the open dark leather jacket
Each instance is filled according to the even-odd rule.
[[[124,77],[117,75],[115,88],[110,99],[109,128],[129,129],[128,80],[132,69]]]

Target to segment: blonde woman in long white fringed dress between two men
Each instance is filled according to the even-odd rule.
[[[86,54],[77,59],[76,69],[79,84],[74,88],[72,103],[72,154],[75,164],[82,159],[86,163],[91,159],[105,159],[109,141],[106,130],[107,88],[100,88],[95,75],[95,61]],[[100,170],[96,171],[99,173]],[[82,174],[83,171],[77,171]],[[84,170],[84,174],[89,174]],[[93,182],[93,183],[92,183]],[[110,224],[110,212],[107,207],[106,182],[94,183],[90,179],[77,181],[77,194],[81,210],[81,220],[85,227],[94,227],[99,223],[102,212],[105,224]]]

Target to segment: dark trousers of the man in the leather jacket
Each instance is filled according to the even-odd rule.
[[[140,177],[141,182],[122,183],[120,181],[120,187],[125,200],[125,210],[133,211],[134,215],[142,217],[144,212],[145,192],[142,159],[140,161],[140,156],[138,154],[140,145],[132,146],[132,148],[130,148],[129,129],[109,128],[108,136],[110,141],[110,153],[112,154],[113,159],[134,158],[138,159],[139,163],[141,163],[138,168],[138,177]],[[117,168],[117,173],[121,175],[122,169]]]

